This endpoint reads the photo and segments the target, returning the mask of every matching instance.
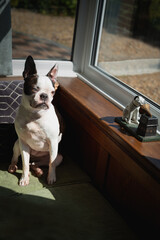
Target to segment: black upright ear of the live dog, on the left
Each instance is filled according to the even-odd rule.
[[[35,62],[32,56],[28,56],[25,62],[25,67],[23,71],[23,77],[27,78],[29,75],[34,75],[37,73]]]

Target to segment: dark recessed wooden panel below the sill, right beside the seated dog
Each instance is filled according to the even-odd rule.
[[[94,178],[99,145],[68,115],[65,117],[67,129],[64,136],[65,153],[75,159]]]

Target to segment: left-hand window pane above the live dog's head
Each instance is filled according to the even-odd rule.
[[[12,57],[70,60],[77,1],[21,2],[11,1]]]

